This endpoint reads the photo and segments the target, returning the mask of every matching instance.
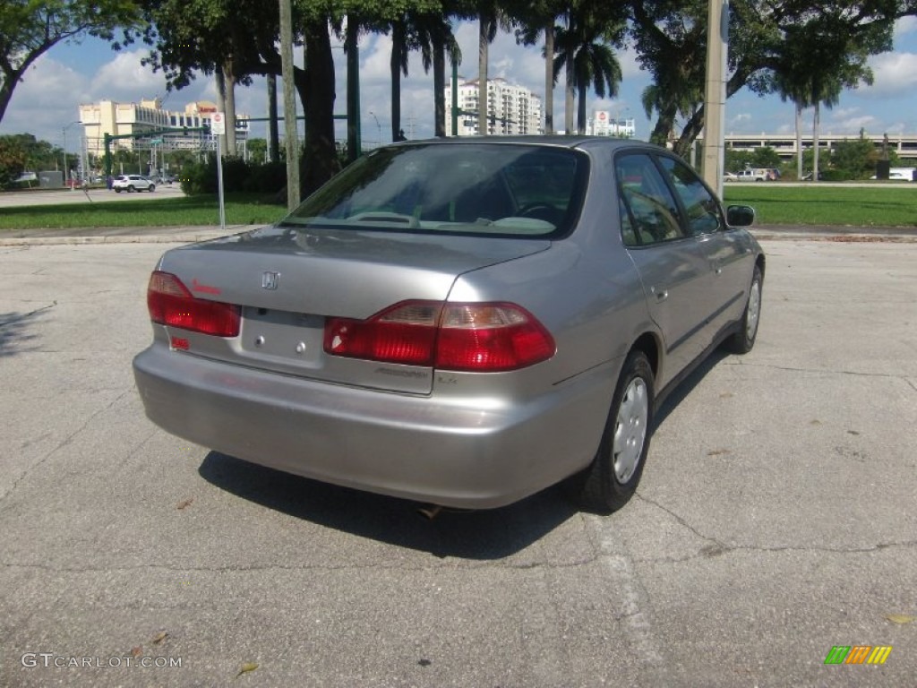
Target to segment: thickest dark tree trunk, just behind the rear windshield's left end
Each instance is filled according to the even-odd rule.
[[[312,194],[340,171],[335,147],[335,63],[324,20],[304,26],[305,69],[296,82],[305,115],[303,194]]]

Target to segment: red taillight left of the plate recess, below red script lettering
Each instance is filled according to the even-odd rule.
[[[157,270],[150,275],[147,307],[150,319],[159,325],[179,327],[215,337],[238,335],[238,305],[196,298],[182,281],[170,272]]]

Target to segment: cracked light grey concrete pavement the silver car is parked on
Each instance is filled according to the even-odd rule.
[[[755,350],[669,397],[620,512],[433,521],[149,423],[165,248],[0,249],[0,686],[914,684],[914,243],[768,240]]]

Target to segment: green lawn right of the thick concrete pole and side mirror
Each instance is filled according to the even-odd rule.
[[[758,225],[917,226],[917,184],[768,186],[726,184],[728,204],[751,205]]]

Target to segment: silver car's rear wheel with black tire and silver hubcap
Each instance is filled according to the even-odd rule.
[[[653,369],[646,355],[632,351],[624,361],[615,387],[595,458],[589,468],[569,478],[567,483],[569,495],[584,511],[611,514],[634,496],[649,451],[653,389]],[[622,419],[622,414],[629,418]],[[624,440],[623,451],[616,451],[616,435]]]

